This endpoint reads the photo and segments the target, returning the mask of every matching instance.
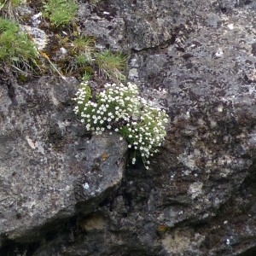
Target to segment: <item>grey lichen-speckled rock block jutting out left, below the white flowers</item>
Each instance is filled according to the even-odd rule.
[[[11,99],[1,87],[0,107],[0,230],[9,238],[72,217],[78,201],[104,200],[121,181],[126,151],[117,134],[83,136],[69,106],[76,80],[12,86]]]

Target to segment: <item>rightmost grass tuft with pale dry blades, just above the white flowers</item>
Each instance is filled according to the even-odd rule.
[[[96,65],[108,79],[115,79],[117,81],[125,81],[125,72],[127,57],[120,53],[113,53],[107,49],[103,52],[96,53]]]

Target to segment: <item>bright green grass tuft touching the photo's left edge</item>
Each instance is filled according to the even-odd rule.
[[[28,64],[37,57],[38,51],[26,32],[21,32],[15,21],[0,17],[0,61]]]

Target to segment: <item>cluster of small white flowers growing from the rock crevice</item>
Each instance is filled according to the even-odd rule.
[[[136,84],[105,84],[104,90],[93,98],[89,82],[81,83],[74,99],[87,131],[117,131],[128,142],[128,148],[135,149],[132,164],[139,151],[148,169],[148,158],[157,152],[166,137],[167,115],[164,110],[154,108],[139,96]]]

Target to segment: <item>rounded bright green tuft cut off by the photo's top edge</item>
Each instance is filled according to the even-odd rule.
[[[44,17],[55,26],[65,26],[76,16],[78,5],[74,0],[49,0],[44,2]]]

